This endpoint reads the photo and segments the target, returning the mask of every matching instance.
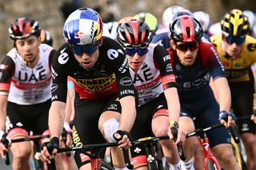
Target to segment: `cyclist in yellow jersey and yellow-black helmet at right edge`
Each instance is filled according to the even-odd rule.
[[[221,21],[222,34],[211,37],[226,69],[232,109],[237,117],[253,113],[254,77],[250,65],[256,62],[256,40],[248,35],[250,24],[241,10],[230,10]],[[255,69],[252,69],[255,72]],[[248,169],[256,169],[256,125],[250,119],[237,122],[246,148]]]

